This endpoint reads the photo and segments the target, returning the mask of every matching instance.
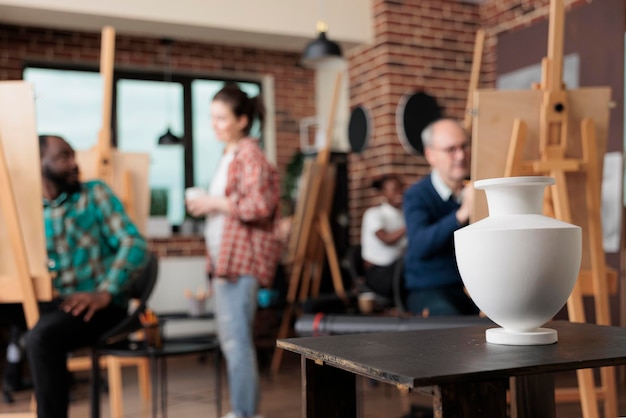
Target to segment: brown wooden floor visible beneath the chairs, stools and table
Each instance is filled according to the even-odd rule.
[[[211,358],[198,356],[178,357],[168,360],[169,416],[177,418],[219,418],[215,408],[214,373]],[[89,417],[88,375],[78,374],[79,383],[72,390],[71,418]],[[559,375],[559,385],[575,383],[572,376]],[[363,418],[401,418],[411,404],[429,406],[431,399],[417,393],[402,395],[395,387],[373,384],[366,379],[358,380]],[[626,392],[620,385],[620,416],[626,416]],[[281,373],[272,377],[266,367],[261,375],[261,413],[265,418],[297,418],[302,416],[301,381],[299,358],[287,353]],[[227,389],[223,393],[223,411],[228,412]],[[0,403],[0,412],[26,411],[30,392],[16,393],[16,403]],[[108,396],[102,399],[102,416],[109,417]],[[131,368],[124,370],[124,417],[144,418],[151,416],[150,405],[139,397],[136,374]],[[558,418],[582,418],[578,404],[559,404]]]

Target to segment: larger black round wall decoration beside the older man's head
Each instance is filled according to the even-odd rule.
[[[422,130],[440,117],[441,108],[434,97],[422,91],[403,97],[396,109],[396,130],[404,149],[423,155]]]

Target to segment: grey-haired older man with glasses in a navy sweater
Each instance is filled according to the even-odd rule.
[[[422,143],[431,173],[404,195],[407,308],[421,315],[478,314],[454,255],[454,231],[468,224],[474,201],[473,186],[465,184],[471,142],[457,121],[440,119],[424,129]]]

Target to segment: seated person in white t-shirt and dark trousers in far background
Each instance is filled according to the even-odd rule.
[[[365,284],[376,294],[393,298],[393,275],[406,248],[406,227],[402,213],[404,189],[398,176],[386,175],[372,184],[380,193],[380,204],[363,214],[361,256]]]

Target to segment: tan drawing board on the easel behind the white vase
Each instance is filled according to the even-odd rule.
[[[503,177],[513,124],[516,118],[527,126],[524,160],[540,159],[539,124],[541,90],[497,91],[477,90],[474,108],[476,117],[472,134],[473,181]],[[602,168],[607,143],[609,102],[611,89],[608,87],[582,88],[567,91],[568,147],[566,157],[582,158],[581,121],[591,118],[596,126],[596,149],[598,166]],[[585,203],[585,178],[583,173],[567,173],[567,195],[572,213],[572,223],[585,230],[588,223]],[[556,186],[552,186],[556,187]],[[487,216],[487,201],[481,191],[475,194],[475,210],[472,222]],[[582,268],[588,268],[589,243],[583,234]]]

